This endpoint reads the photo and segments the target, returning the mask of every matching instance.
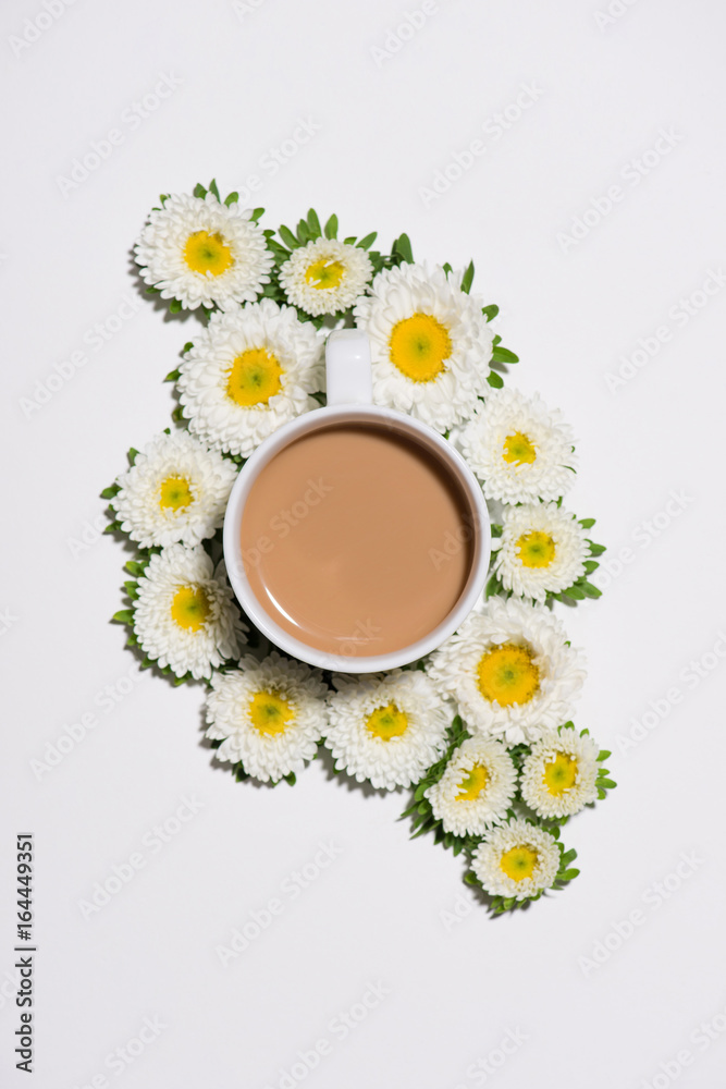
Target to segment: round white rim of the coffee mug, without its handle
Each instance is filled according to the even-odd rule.
[[[420,438],[422,445],[428,446],[429,450],[433,448],[435,455],[445,467],[450,472],[454,470],[471,507],[475,524],[473,555],[466,586],[456,604],[443,621],[426,636],[416,640],[416,643],[408,644],[406,647],[384,653],[360,656],[334,654],[330,651],[311,647],[294,635],[291,635],[269,615],[255,596],[247,579],[242,558],[242,515],[249,491],[262,469],[295,439],[300,438],[308,431],[315,431],[321,427],[334,424],[367,421],[383,427],[387,423],[389,426],[393,426],[399,433],[407,435],[414,441],[417,437]],[[382,405],[370,403],[336,404],[315,408],[311,412],[304,413],[288,420],[282,427],[278,428],[276,431],[273,431],[250,454],[239,469],[237,479],[230,492],[224,514],[222,548],[226,575],[239,605],[253,624],[275,647],[318,669],[331,670],[335,673],[378,673],[409,664],[431,653],[448,636],[453,635],[466,616],[469,615],[487,580],[491,556],[491,519],[483,490],[473,473],[455,446],[439,435],[438,431],[434,431],[433,428],[411,416],[393,408],[383,407]]]

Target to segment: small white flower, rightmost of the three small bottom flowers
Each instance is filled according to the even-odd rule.
[[[532,746],[521,772],[521,796],[540,817],[571,817],[598,797],[600,749],[573,726]]]

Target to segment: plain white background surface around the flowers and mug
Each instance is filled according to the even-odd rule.
[[[612,3],[622,14],[605,24],[605,0],[441,0],[382,57],[372,49],[395,49],[403,2],[238,7],[77,0],[35,34],[25,21],[40,3],[14,0],[0,20],[3,1085],[28,1084],[14,1069],[5,972],[14,835],[30,830],[39,1089],[103,1085],[101,1075],[122,1089],[297,1085],[284,1073],[321,1039],[331,1053],[305,1078],[311,1089],[713,1089],[726,1032],[698,1041],[702,1023],[726,1028],[726,290],[694,295],[687,321],[678,301],[726,259],[724,8],[630,0]],[[37,40],[13,48],[24,33]],[[122,120],[162,74],[180,81],[173,94],[141,123]],[[518,111],[524,84],[539,90]],[[520,117],[497,130],[507,108]],[[298,119],[319,131],[271,176],[261,161]],[[123,142],[62,192],[59,176],[111,129]],[[677,139],[635,184],[628,163],[662,129]],[[421,188],[478,138],[485,154],[427,206]],[[365,797],[318,764],[294,790],[235,784],[201,744],[199,690],[145,674],[113,710],[99,707],[106,685],[138,674],[124,631],[108,623],[124,555],[94,528],[98,492],[128,445],[167,426],[161,379],[196,322],[162,320],[140,301],[130,247],[160,192],[211,176],[229,192],[250,174],[269,225],[315,204],[321,217],[337,212],[344,234],[378,229],[387,246],[406,230],[419,257],[473,257],[475,286],[500,304],[496,328],[521,357],[512,381],[559,405],[579,437],[570,506],[598,516],[608,556],[630,549],[602,601],[558,607],[590,665],[577,721],[615,750],[620,785],[567,829],[581,877],[514,917],[468,910],[463,865],[408,842],[402,796]],[[601,201],[606,213],[590,212],[580,241],[558,238],[613,185],[623,198],[608,212]],[[136,311],[94,351],[88,330],[124,298]],[[662,326],[670,339],[608,389],[606,375]],[[28,409],[23,399],[42,397],[37,383],[79,351],[85,365]],[[684,498],[667,513],[672,491]],[[703,676],[689,674],[701,659]],[[652,729],[624,746],[651,701]],[[88,712],[98,724],[38,778],[32,761]],[[163,849],[143,847],[184,797],[204,808]],[[331,865],[297,898],[281,892],[327,842],[341,848]],[[139,849],[144,868],[84,918],[79,901]],[[681,852],[694,861],[677,877]],[[663,881],[667,900],[653,891]],[[222,967],[216,947],[272,897],[283,913]],[[640,926],[622,941],[614,925],[633,911]],[[390,993],[340,1039],[331,1020],[369,982]],[[107,1056],[145,1017],[165,1027],[115,1073],[123,1061],[111,1068]],[[508,1031],[526,1040],[501,1064]],[[692,1061],[681,1069],[682,1049]],[[477,1073],[479,1060],[493,1073]]]

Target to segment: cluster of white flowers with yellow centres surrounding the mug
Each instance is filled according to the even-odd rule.
[[[365,248],[373,236],[293,245],[283,228],[288,253],[212,189],[162,198],[135,248],[144,281],[172,309],[204,307],[208,321],[174,376],[185,429],[135,453],[108,492],[115,527],[143,551],[128,565],[132,608],[116,619],[145,664],[208,682],[207,737],[243,776],[293,782],[324,747],[357,782],[417,786],[418,812],[445,842],[467,844],[490,895],[509,905],[538,896],[563,877],[547,824],[603,796],[604,754],[568,721],[582,657],[545,607],[578,582],[592,591],[581,580],[596,566],[591,522],[561,506],[574,479],[570,429],[539,395],[491,387],[506,353],[497,357],[490,311],[468,291],[472,269],[465,282],[448,266],[382,260]],[[313,212],[308,222],[320,235]],[[328,682],[276,650],[247,652],[212,556],[239,460],[319,406],[325,332],[343,315],[370,339],[374,402],[451,436],[502,504],[492,573],[506,596],[417,668]]]

